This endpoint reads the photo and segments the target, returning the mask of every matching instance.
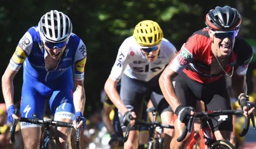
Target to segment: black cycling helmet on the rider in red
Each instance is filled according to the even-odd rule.
[[[206,15],[206,25],[211,30],[237,30],[240,28],[241,21],[238,11],[229,6],[217,6]]]

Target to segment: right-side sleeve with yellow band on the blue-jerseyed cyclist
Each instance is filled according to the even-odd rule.
[[[78,48],[75,51],[75,58],[73,64],[74,80],[81,81],[84,78],[84,66],[86,65],[87,51],[86,45],[80,39]]]

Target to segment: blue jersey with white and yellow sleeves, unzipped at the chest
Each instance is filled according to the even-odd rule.
[[[45,68],[47,55],[38,27],[32,27],[19,41],[9,65],[14,71],[18,71],[23,64],[24,77],[32,77],[39,82],[56,80],[66,71],[72,71],[72,68],[74,79],[83,80],[87,57],[86,45],[74,33],[71,34],[61,59],[52,71]]]

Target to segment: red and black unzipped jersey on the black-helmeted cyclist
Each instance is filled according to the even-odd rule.
[[[225,72],[231,72],[234,66],[234,73],[245,75],[248,64],[251,62],[252,47],[241,37],[235,38],[232,53],[227,57],[228,64],[225,72],[218,75],[210,75],[212,54],[212,38],[208,33],[208,28],[204,28],[192,34],[182,46],[169,64],[169,67],[180,73],[183,71],[192,80],[200,83],[211,83],[218,80]]]

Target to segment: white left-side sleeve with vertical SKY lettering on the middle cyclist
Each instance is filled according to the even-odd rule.
[[[112,71],[109,75],[109,77],[112,78],[114,81],[119,81],[121,79],[121,76],[124,73],[126,66],[130,62],[129,55],[128,55],[130,46],[129,46],[129,43],[127,43],[126,41],[127,40],[125,40],[120,46],[115,64],[112,67]]]

